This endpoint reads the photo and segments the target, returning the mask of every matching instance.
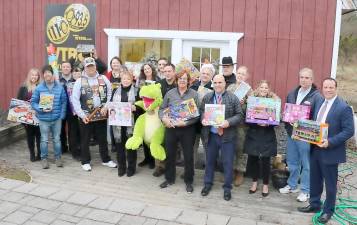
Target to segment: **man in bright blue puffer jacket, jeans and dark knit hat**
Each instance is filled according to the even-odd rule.
[[[63,167],[61,160],[61,125],[66,116],[67,97],[60,83],[55,81],[50,65],[42,68],[43,82],[40,83],[31,98],[31,106],[40,121],[42,168],[48,169],[48,134],[52,132],[55,160],[57,167]]]

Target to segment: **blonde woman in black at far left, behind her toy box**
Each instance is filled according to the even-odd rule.
[[[32,68],[27,73],[27,77],[23,85],[20,87],[17,98],[24,101],[31,101],[32,92],[35,90],[37,85],[41,81],[40,71],[36,68]],[[30,151],[30,161],[34,162],[41,159],[40,151],[40,128],[38,126],[24,124],[26,136],[27,136],[27,146]],[[35,155],[35,140],[37,155]]]

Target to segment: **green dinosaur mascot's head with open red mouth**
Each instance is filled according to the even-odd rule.
[[[162,103],[161,84],[150,84],[140,89],[140,98],[135,105],[140,106],[145,111],[153,111],[160,107]]]

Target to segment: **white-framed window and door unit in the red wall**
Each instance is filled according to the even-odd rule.
[[[168,58],[173,64],[182,57],[192,60],[192,49],[195,50],[195,63],[198,66],[205,57],[211,62],[219,62],[223,56],[238,55],[238,41],[243,33],[204,32],[182,30],[135,30],[104,29],[108,35],[108,63],[114,56],[120,56],[125,62],[137,62],[155,53],[155,58]],[[199,53],[198,53],[199,52]],[[119,53],[119,54],[118,54]]]

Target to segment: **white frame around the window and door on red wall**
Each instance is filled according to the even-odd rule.
[[[105,28],[108,35],[108,65],[110,59],[118,56],[120,39],[123,38],[143,38],[171,40],[171,62],[179,63],[183,54],[183,42],[194,41],[221,41],[229,43],[229,56],[233,60],[238,56],[238,41],[243,37],[243,33],[232,32],[205,32],[205,31],[178,31],[178,30],[137,30],[137,29],[111,29]]]

